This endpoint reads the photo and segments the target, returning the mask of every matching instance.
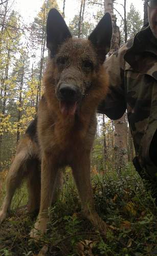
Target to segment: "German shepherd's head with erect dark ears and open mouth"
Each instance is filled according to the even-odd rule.
[[[64,19],[51,9],[47,20],[47,47],[53,61],[55,93],[63,115],[74,116],[93,86],[110,48],[111,17],[106,13],[88,39],[72,38]]]

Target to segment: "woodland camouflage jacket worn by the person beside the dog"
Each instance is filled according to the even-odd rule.
[[[105,61],[110,91],[98,112],[119,119],[127,109],[138,170],[156,177],[149,157],[150,142],[157,129],[157,40],[149,26],[142,29]],[[157,136],[156,136],[157,162]]]

